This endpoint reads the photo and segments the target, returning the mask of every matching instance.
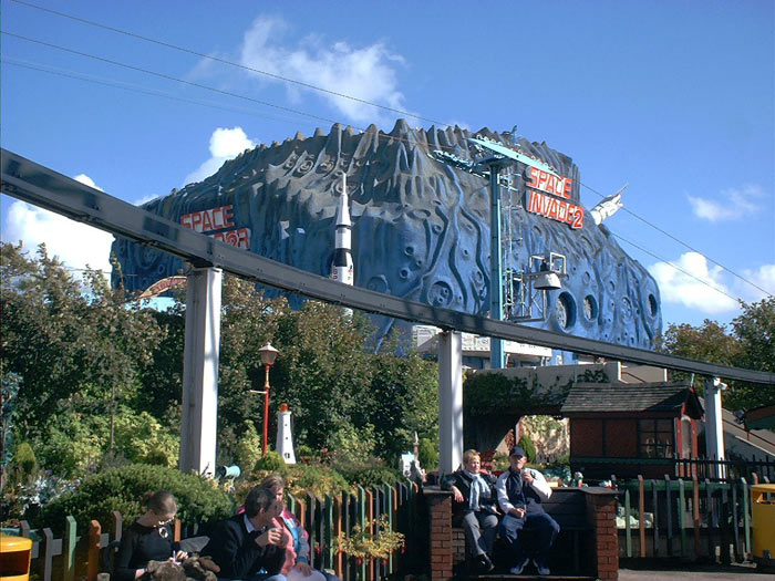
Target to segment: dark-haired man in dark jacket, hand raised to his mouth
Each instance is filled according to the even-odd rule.
[[[245,500],[245,513],[219,522],[202,554],[220,567],[218,580],[285,581],[286,533],[272,526],[282,510],[275,494],[257,486]]]

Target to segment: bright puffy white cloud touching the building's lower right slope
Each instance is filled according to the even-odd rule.
[[[722,281],[723,269],[709,267],[704,256],[686,252],[674,260],[673,264],[680,270],[668,262],[657,262],[649,267],[649,272],[659,284],[662,301],[713,315],[740,308],[740,303],[728,297],[734,297],[735,292]]]

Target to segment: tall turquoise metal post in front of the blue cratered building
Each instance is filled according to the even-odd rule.
[[[496,321],[502,321],[504,313],[499,169],[498,164],[489,165],[489,318]],[[494,370],[505,366],[503,339],[489,338],[489,366]]]

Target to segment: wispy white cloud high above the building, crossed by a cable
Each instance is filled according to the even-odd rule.
[[[404,95],[397,89],[395,71],[395,66],[403,64],[404,59],[390,52],[384,43],[356,49],[344,41],[338,41],[327,46],[321,38],[311,35],[298,48],[288,49],[279,42],[287,29],[288,24],[280,18],[256,19],[245,33],[240,63],[391,108],[406,110]],[[271,81],[266,75],[258,76],[262,82]],[[286,89],[291,97],[298,97],[301,91],[308,91],[294,84],[287,84]],[[314,93],[355,123],[385,124],[396,116],[350,98],[319,91]]]

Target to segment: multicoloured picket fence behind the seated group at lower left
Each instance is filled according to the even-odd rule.
[[[333,570],[343,581],[372,581],[384,579],[400,570],[414,568],[427,554],[426,539],[422,539],[422,526],[417,521],[417,487],[399,483],[368,488],[359,487],[354,495],[317,497],[308,492],[303,497],[288,497],[288,508],[309,532],[310,564],[316,569]],[[405,536],[405,546],[386,559],[356,559],[337,550],[340,531],[349,538],[353,527],[370,530],[381,516],[386,518],[390,530]],[[113,513],[113,522],[92,520],[89,531],[79,536],[75,519],[66,517],[65,533],[54,538],[50,528],[31,531],[21,522],[21,536],[33,539],[31,573],[41,581],[74,581],[85,578],[96,581],[105,569],[104,549],[114,540],[121,540],[123,517]],[[379,528],[371,528],[379,536]],[[185,529],[175,522],[175,539],[196,536],[197,527]]]

